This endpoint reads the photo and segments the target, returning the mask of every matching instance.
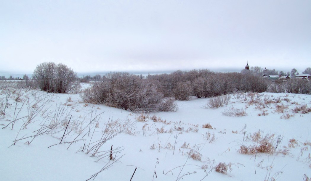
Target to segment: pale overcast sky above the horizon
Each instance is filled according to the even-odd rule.
[[[0,71],[311,66],[310,0],[0,0]]]

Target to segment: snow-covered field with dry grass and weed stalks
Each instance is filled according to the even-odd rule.
[[[311,95],[237,93],[217,109],[205,108],[211,98],[193,98],[177,101],[177,112],[137,114],[84,103],[79,94],[0,91],[0,180],[98,173],[95,180],[123,181],[135,168],[132,181],[311,177]],[[223,115],[238,109],[247,115]],[[270,154],[240,150],[269,145]],[[225,174],[216,172],[220,162]]]

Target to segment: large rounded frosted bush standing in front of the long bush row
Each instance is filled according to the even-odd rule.
[[[108,73],[81,94],[85,102],[132,111],[174,111],[176,105],[157,91],[156,84],[126,72]]]

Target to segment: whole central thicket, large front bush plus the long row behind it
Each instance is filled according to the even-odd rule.
[[[148,79],[127,72],[111,72],[93,83],[81,97],[85,102],[132,111],[176,111],[174,100],[215,97],[233,93],[264,92],[266,79],[253,74],[215,73],[209,70],[176,71],[149,75]]]

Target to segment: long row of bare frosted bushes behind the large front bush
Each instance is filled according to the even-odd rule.
[[[165,97],[188,100],[190,96],[216,97],[243,92],[265,92],[269,81],[252,73],[215,73],[209,70],[175,71],[171,74],[151,75]]]

